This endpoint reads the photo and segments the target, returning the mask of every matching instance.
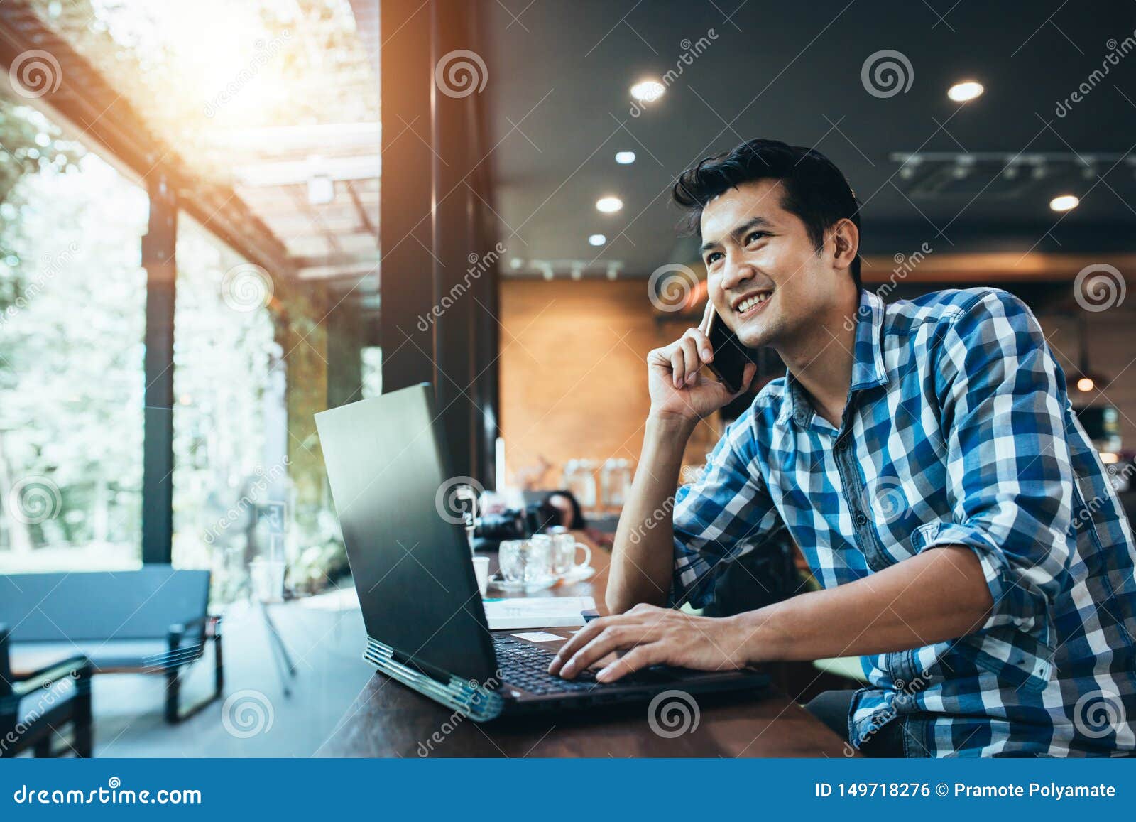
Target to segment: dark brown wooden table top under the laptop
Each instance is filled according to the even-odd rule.
[[[595,576],[542,595],[591,595],[605,613],[610,559],[607,550],[593,547]],[[698,726],[669,739],[651,730],[646,705],[476,723],[376,673],[318,755],[842,757],[849,750],[843,739],[772,688],[759,695],[700,695],[698,707]]]

